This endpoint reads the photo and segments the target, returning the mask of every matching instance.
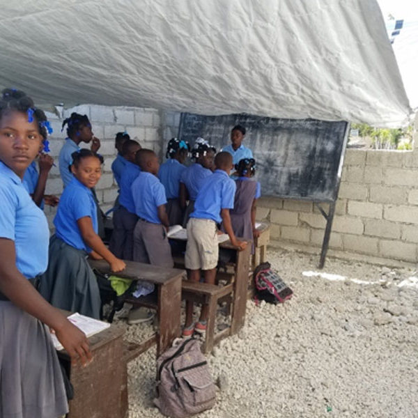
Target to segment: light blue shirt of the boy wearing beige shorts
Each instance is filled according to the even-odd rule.
[[[235,181],[229,178],[226,171],[215,170],[212,176],[203,180],[190,217],[212,219],[220,224],[221,209],[233,209],[236,188]]]

